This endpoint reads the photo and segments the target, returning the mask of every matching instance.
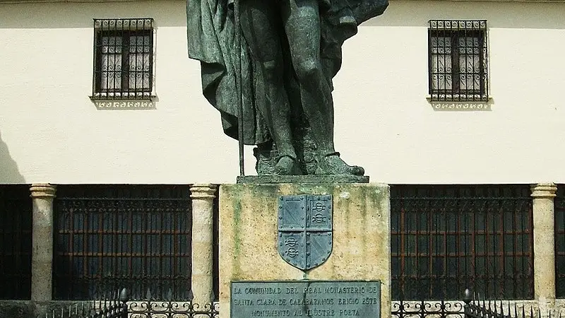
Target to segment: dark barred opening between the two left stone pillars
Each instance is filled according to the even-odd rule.
[[[55,299],[189,300],[188,185],[60,185],[54,217]]]

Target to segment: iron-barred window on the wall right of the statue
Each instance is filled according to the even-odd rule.
[[[429,20],[432,101],[487,101],[487,21]]]

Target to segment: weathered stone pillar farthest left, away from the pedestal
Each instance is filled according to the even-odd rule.
[[[52,300],[53,199],[56,188],[48,183],[30,187],[33,205],[31,300]]]

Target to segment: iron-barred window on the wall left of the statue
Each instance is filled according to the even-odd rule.
[[[153,19],[95,19],[93,65],[91,98],[150,99]]]

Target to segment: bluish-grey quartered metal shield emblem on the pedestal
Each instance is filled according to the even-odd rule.
[[[323,264],[332,250],[332,196],[281,196],[278,254],[303,271]]]

